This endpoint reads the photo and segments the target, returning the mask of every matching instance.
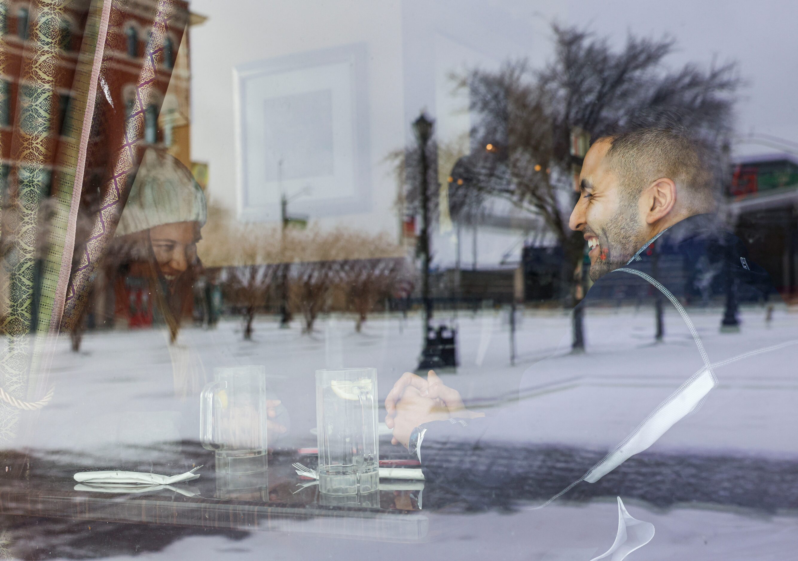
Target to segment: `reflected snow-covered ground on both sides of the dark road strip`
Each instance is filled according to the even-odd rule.
[[[769,323],[764,316],[762,308],[746,308],[741,312],[741,331],[721,333],[721,310],[691,311],[713,363],[798,340],[798,313],[776,310]],[[454,320],[451,314],[439,319]],[[653,340],[650,308],[592,313],[587,318],[587,352],[570,354],[566,345],[558,355],[563,334],[567,343],[568,316],[527,311],[518,322],[515,366],[510,364],[506,312],[460,312],[456,324],[460,367],[456,373],[442,374],[444,381],[460,390],[467,404],[491,408],[517,396],[522,386],[521,400],[530,413],[529,425],[519,433],[532,431],[567,445],[616,444],[630,426],[645,418],[652,404],[701,366],[693,339],[676,312],[666,314],[666,338],[658,344]],[[56,397],[42,411],[40,430],[29,444],[42,453],[60,449],[94,454],[181,437],[196,440],[192,423],[181,423],[175,411],[173,371],[204,372],[210,379],[215,367],[263,364],[270,391],[282,400],[283,419],[290,423],[279,446],[314,445],[310,434],[315,426],[314,371],[337,363],[376,367],[384,398],[402,372],[416,366],[420,327],[418,316],[405,320],[400,315],[375,315],[363,332],[355,333],[354,320],[338,316],[322,318],[313,335],[302,335],[298,322],[281,330],[274,318],[262,318],[255,324],[254,339],[244,341],[240,323],[224,320],[214,330],[185,328],[180,353],[174,349],[170,353],[158,329],[89,333],[79,353],[69,351],[64,338],[58,343],[50,379]],[[795,363],[789,362],[796,348],[792,354],[776,351],[753,362],[718,368],[720,385],[712,399],[699,414],[684,420],[686,428],[679,424],[662,437],[660,449],[798,457],[798,380]],[[552,353],[554,359],[535,365]],[[608,406],[614,402],[622,402],[623,408]],[[184,404],[184,416],[190,411],[192,403]],[[586,431],[590,419],[593,424]],[[599,439],[590,440],[586,434],[598,434]],[[717,505],[662,511],[634,500],[626,507],[632,516],[653,523],[657,532],[630,559],[798,559],[798,518],[792,511],[765,516]],[[380,559],[588,561],[610,546],[617,520],[614,502],[604,500],[555,503],[534,512],[430,512],[429,532],[422,543],[253,532],[234,541],[222,536],[186,537],[136,558],[349,559],[356,553]]]

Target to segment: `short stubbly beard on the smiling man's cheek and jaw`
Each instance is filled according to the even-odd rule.
[[[637,208],[630,202],[622,202],[615,214],[606,221],[605,228],[596,234],[599,237],[601,253],[588,273],[591,281],[626,265],[638,249],[646,242],[642,226],[637,222]]]

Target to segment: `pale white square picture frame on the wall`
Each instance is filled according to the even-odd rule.
[[[365,45],[235,68],[239,216],[322,218],[370,209]]]

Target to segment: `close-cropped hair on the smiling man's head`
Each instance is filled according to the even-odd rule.
[[[685,206],[694,213],[715,205],[712,152],[700,139],[678,128],[637,128],[603,139],[611,143],[606,153],[610,170],[621,187],[636,201],[642,191],[660,178],[672,179]]]

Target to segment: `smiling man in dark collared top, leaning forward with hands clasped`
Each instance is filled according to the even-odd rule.
[[[700,415],[682,420],[713,386],[709,372],[704,393],[678,396],[687,404],[684,410],[666,415],[642,436],[639,432],[642,420],[658,419],[654,413],[663,407],[667,413],[671,392],[682,390],[693,373],[706,372],[710,359],[729,358],[717,347],[708,357],[685,312],[684,306],[692,309],[691,304],[706,301],[701,287],[709,287],[719,304],[763,301],[772,292],[767,273],[712,214],[718,185],[712,161],[704,144],[672,128],[636,129],[593,144],[569,221],[585,237],[595,283],[579,304],[586,312],[587,355],[561,353],[535,363],[521,384],[521,394],[531,398],[486,414],[468,410],[437,375],[403,375],[385,399],[385,421],[394,442],[421,460],[429,481],[469,490],[535,489],[535,496],[547,498],[571,483],[598,481],[649,448],[662,453],[658,438],[668,430],[663,426],[673,426],[677,435],[666,441],[680,447],[693,446],[693,434],[708,430],[701,423],[713,426]],[[606,311],[624,304],[637,309],[656,298],[676,308],[668,324],[671,343],[650,345],[653,336],[641,330],[653,328],[654,321],[617,313],[616,320]],[[706,315],[705,308],[701,313]],[[563,339],[570,343],[570,334]],[[755,338],[739,339],[733,351],[754,355],[760,352],[756,347]],[[626,448],[618,452],[613,447],[619,442]],[[670,465],[670,448],[664,449],[663,465]],[[674,456],[673,461],[667,467],[675,474],[673,488],[694,487],[695,481],[679,480],[681,460]],[[638,496],[654,492],[642,481]],[[662,481],[658,485],[662,492]],[[711,485],[701,490],[709,501],[720,496],[716,491]]]

